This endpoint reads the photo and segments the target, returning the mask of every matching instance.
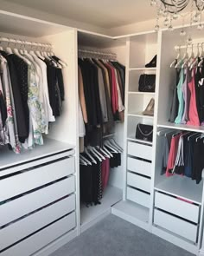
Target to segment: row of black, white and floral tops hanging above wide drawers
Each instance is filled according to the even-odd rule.
[[[60,59],[54,56],[56,62]],[[0,144],[15,153],[43,145],[49,122],[61,115],[62,71],[54,61],[34,51],[0,51]],[[52,106],[52,108],[51,108]]]

